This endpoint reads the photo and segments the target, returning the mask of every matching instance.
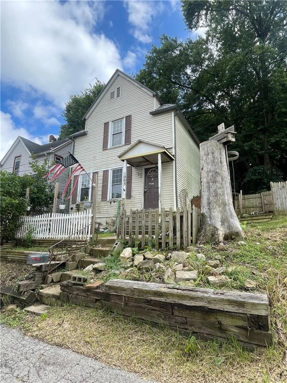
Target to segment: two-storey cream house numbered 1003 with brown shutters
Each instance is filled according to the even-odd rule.
[[[182,205],[200,193],[199,141],[173,104],[162,105],[143,84],[117,69],[70,136],[81,174],[70,211],[96,192],[96,219],[113,226],[119,200],[126,209]],[[76,179],[76,176],[74,177]]]

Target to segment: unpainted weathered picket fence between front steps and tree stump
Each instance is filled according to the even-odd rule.
[[[195,244],[199,219],[199,209],[195,206],[176,211],[172,207],[160,211],[122,209],[117,221],[117,238],[142,249],[148,245],[155,249],[176,247],[179,250]]]

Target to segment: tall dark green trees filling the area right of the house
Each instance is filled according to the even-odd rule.
[[[269,189],[287,177],[287,2],[189,0],[182,12],[205,36],[163,35],[137,79],[177,103],[201,141],[234,124],[237,191]]]

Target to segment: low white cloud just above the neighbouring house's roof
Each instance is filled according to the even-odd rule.
[[[36,144],[46,144],[49,139],[48,136],[33,136],[25,128],[17,127],[11,118],[9,113],[1,113],[1,143],[0,143],[0,159],[4,157],[7,151],[10,149],[13,142],[18,136],[24,137],[28,140],[35,142]]]

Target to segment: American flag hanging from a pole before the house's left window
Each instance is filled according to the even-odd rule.
[[[51,176],[51,178],[49,179],[49,182],[52,182],[52,181],[56,180],[56,178],[58,178],[60,176],[60,174],[62,174],[67,168],[70,168],[71,166],[77,165],[77,164],[78,164],[78,166],[76,166],[75,169],[72,171],[72,173],[70,174],[70,176],[69,176],[69,178],[65,184],[64,191],[62,193],[62,196],[64,196],[68,190],[69,183],[72,180],[74,174],[77,172],[82,172],[84,170],[82,165],[79,163],[79,161],[72,154],[69,154],[69,156],[63,158],[62,161],[59,162],[58,164],[53,165],[52,168],[49,170],[49,172],[45,176],[43,176],[43,178],[47,178],[47,177]],[[72,189],[68,198],[71,197],[74,189],[76,188],[76,185],[79,181],[79,176],[75,180],[74,185],[73,185],[73,189]]]

